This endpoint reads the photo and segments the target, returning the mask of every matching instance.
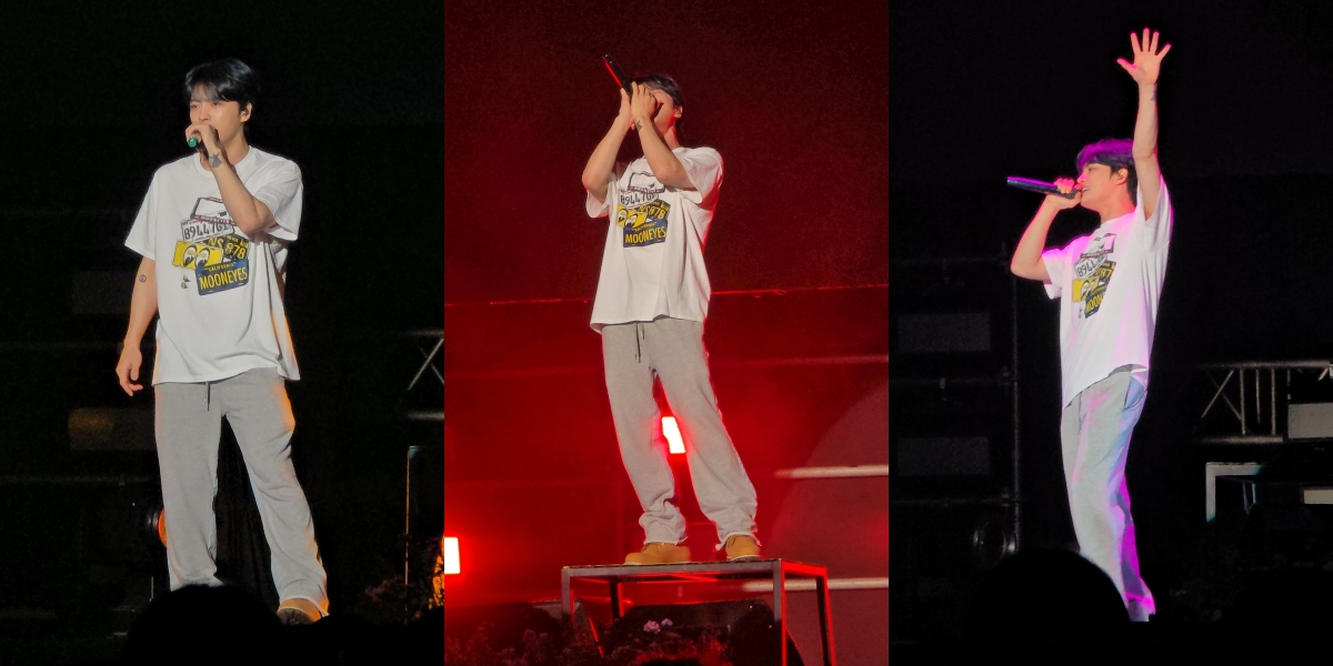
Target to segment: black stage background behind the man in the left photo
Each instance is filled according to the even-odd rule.
[[[156,477],[156,458],[72,450],[68,417],[152,406],[152,392],[127,398],[113,376],[139,261],[123,241],[153,170],[185,152],[185,71],[219,57],[260,73],[252,144],[304,173],[287,293],[303,374],[289,388],[293,450],[335,611],[401,571],[409,445],[433,452],[423,498],[439,534],[440,426],[399,417],[441,400],[429,373],[404,400],[423,362],[404,333],[443,325],[441,24],[440,3],[0,9],[0,224],[12,248],[0,285],[7,635],[40,631],[51,611],[55,623],[113,603],[95,594],[105,571],[89,567],[109,563],[105,547],[132,549],[107,539],[136,535],[103,534],[107,489],[95,477]]]

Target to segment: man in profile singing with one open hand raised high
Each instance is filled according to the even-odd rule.
[[[1134,621],[1146,621],[1156,606],[1138,575],[1125,460],[1148,392],[1173,224],[1157,165],[1157,75],[1170,45],[1158,51],[1157,37],[1144,29],[1140,45],[1130,35],[1134,61],[1118,60],[1138,84],[1133,141],[1085,147],[1078,180],[1056,182],[1073,198],[1046,196],[1010,264],[1016,276],[1041,280],[1060,298],[1060,440],[1074,534],[1084,557],[1110,575]],[[1076,205],[1096,210],[1101,225],[1042,252],[1056,213]]]

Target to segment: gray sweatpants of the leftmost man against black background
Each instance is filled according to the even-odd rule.
[[[307,599],[328,611],[315,523],[292,468],[296,420],[283,381],[276,369],[264,368],[221,381],[153,388],[171,589],[220,585],[213,497],[227,418],[249,472],[279,599]]]

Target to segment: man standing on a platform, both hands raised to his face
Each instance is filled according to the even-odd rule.
[[[608,216],[592,328],[601,333],[607,393],[621,460],[644,514],[644,549],[625,563],[688,562],[685,518],[672,502],[676,481],[653,380],[686,442],[694,493],[717,526],[728,559],[758,557],[754,486],[717,409],[704,349],[710,294],[704,242],[722,184],[722,159],[712,148],[680,145],[680,87],[653,75],[620,91],[620,113],[583,173],[591,217]],[[633,132],[643,157],[616,163]],[[612,214],[612,208],[615,213]]]

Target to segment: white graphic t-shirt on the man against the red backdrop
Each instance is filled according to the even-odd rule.
[[[694,189],[663,185],[640,157],[617,163],[607,201],[588,193],[589,217],[608,216],[607,248],[592,306],[592,328],[659,316],[704,321],[712,289],[704,242],[722,184],[722,156],[712,148],[672,151]]]

